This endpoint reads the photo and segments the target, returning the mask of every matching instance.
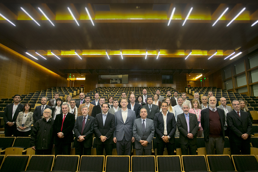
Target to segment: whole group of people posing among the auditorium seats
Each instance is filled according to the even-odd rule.
[[[72,142],[76,155],[91,155],[93,134],[97,155],[103,155],[104,149],[106,155],[112,155],[113,143],[118,155],[131,155],[133,142],[136,155],[151,155],[154,137],[157,155],[163,155],[165,147],[168,155],[173,155],[175,137],[179,137],[182,155],[188,151],[196,155],[197,137],[204,137],[208,155],[214,149],[223,154],[225,136],[229,136],[231,154],[250,154],[252,117],[245,101],[233,100],[232,109],[224,97],[218,105],[212,91],[201,99],[195,93],[191,101],[186,93],[179,96],[174,91],[172,96],[167,90],[167,97],[160,93],[157,89],[154,95],[147,95],[144,89],[136,101],[134,92],[128,97],[123,92],[120,100],[109,96],[107,102],[99,93],[91,102],[90,95],[80,93],[79,100],[68,95],[62,102],[56,92],[50,101],[42,97],[34,113],[29,103],[21,105],[20,95],[15,95],[4,112],[5,136],[31,133],[36,155],[50,155],[53,147],[56,155],[70,155]]]

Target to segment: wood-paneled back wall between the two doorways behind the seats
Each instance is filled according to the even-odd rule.
[[[86,75],[84,83],[84,92],[87,93],[96,87],[172,87],[179,92],[184,92],[186,75],[176,72],[173,84],[162,84],[159,74],[133,74],[128,76],[128,84],[98,84],[98,75]]]

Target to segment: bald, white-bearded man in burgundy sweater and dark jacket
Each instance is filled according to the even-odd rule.
[[[213,155],[214,147],[217,155],[224,151],[224,111],[216,108],[215,97],[209,98],[209,107],[201,111],[201,125],[204,132],[204,141],[207,155]]]

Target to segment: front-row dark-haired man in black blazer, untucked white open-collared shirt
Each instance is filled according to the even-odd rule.
[[[156,133],[157,155],[163,155],[165,146],[167,147],[168,155],[174,155],[177,124],[174,114],[167,112],[167,109],[168,103],[163,101],[161,103],[162,111],[155,114],[153,120]]]

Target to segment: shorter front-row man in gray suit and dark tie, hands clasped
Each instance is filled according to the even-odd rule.
[[[147,110],[143,107],[140,110],[140,117],[134,120],[133,135],[136,140],[136,155],[151,155],[152,140],[154,137],[153,120],[147,119]]]

